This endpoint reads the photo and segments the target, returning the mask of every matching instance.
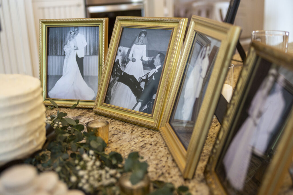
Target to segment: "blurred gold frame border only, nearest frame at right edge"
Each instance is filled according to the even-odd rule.
[[[259,42],[253,42],[250,48],[249,54],[243,65],[241,75],[237,82],[234,94],[232,96],[230,106],[224,117],[222,127],[219,131],[216,142],[213,146],[212,153],[209,156],[209,161],[205,168],[205,178],[209,187],[212,189],[213,194],[227,194],[224,186],[222,185],[219,177],[215,172],[217,161],[221,155],[221,151],[225,145],[224,140],[233,133],[231,127],[233,125],[234,118],[237,114],[237,108],[243,102],[243,98],[247,93],[246,86],[253,77],[254,67],[257,56],[264,58],[267,61],[280,65],[284,68],[293,71],[293,55],[286,54],[281,50],[277,50],[271,46],[261,44]],[[258,194],[277,194],[278,189],[282,184],[282,178],[284,178],[286,171],[292,162],[293,156],[293,108],[290,110],[289,117],[287,118],[287,125],[284,127],[283,135],[277,146],[278,152],[275,153],[270,165],[263,176],[263,182],[260,186]],[[231,130],[231,131],[230,131]]]

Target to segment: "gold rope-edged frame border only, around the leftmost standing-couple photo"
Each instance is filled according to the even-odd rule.
[[[47,94],[47,29],[48,27],[68,27],[68,26],[98,26],[99,27],[99,62],[98,62],[98,83],[104,71],[104,61],[108,49],[108,18],[80,18],[80,19],[45,19],[40,20],[40,58],[39,58],[39,79],[43,89],[42,95],[44,104],[51,106],[51,102],[46,97]],[[97,86],[98,87],[98,86]],[[77,100],[54,99],[58,106],[70,107]],[[93,100],[81,100],[77,107],[93,108]]]

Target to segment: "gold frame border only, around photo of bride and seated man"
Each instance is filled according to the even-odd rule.
[[[94,112],[157,130],[160,125],[161,113],[165,109],[168,93],[173,87],[174,74],[177,69],[176,65],[180,56],[180,49],[183,42],[187,20],[187,18],[118,16],[115,21],[107,59],[105,62],[105,73],[103,74],[100,91],[98,92],[93,109]],[[123,27],[172,30],[169,49],[166,54],[165,64],[152,114],[146,114],[104,103]]]

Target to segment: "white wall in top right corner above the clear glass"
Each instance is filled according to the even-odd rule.
[[[292,0],[265,0],[263,29],[288,31],[289,42],[293,42],[292,9]]]

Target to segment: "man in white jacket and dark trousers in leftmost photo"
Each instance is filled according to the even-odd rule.
[[[76,40],[76,62],[81,76],[84,78],[84,48],[86,47],[86,39],[83,34],[78,32],[78,27],[74,27],[74,35]]]

